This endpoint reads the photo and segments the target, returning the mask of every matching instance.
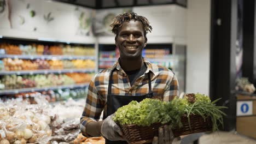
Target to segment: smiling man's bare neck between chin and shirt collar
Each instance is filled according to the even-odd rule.
[[[132,70],[137,70],[140,69],[142,67],[143,63],[143,59],[138,58],[138,59],[119,59],[119,64],[121,66],[121,68],[124,71],[132,71]]]

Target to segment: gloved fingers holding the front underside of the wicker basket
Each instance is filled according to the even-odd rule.
[[[158,137],[154,137],[152,144],[179,144],[181,137],[174,137],[170,125],[158,129]]]

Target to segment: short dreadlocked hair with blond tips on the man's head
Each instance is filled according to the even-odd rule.
[[[112,33],[118,34],[118,29],[123,26],[124,22],[129,22],[131,20],[139,21],[142,23],[142,27],[144,30],[144,36],[146,37],[146,34],[152,31],[152,26],[149,25],[149,21],[144,16],[139,16],[136,13],[124,13],[120,14],[115,17],[114,22],[110,25],[112,27]]]

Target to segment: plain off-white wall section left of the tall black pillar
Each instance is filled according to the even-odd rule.
[[[187,82],[189,93],[210,92],[210,0],[189,0],[187,9]]]

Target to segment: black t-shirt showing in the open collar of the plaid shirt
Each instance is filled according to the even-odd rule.
[[[147,67],[145,64],[143,64],[140,69],[125,71],[125,73],[129,77],[130,85],[132,86],[133,83],[138,79],[138,77],[142,76],[146,72],[146,70],[147,70]]]

